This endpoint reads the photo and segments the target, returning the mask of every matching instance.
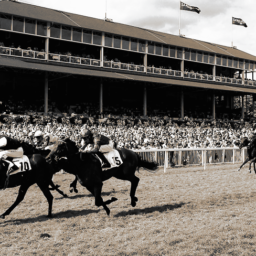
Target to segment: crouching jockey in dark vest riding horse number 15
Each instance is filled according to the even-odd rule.
[[[103,161],[103,168],[109,167],[109,162],[103,155],[104,153],[108,153],[114,149],[114,142],[104,135],[94,134],[90,130],[82,130],[82,147],[80,152],[82,153],[97,153],[97,155]],[[88,144],[93,144],[93,148],[91,150],[85,149]]]

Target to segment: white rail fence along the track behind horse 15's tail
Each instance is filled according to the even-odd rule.
[[[174,163],[182,166],[188,165],[221,164],[244,162],[247,156],[247,148],[173,148],[173,149],[146,149],[134,150],[142,159],[156,161],[159,166],[166,169]]]

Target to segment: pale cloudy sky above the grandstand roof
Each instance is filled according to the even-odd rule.
[[[20,0],[52,9],[94,18],[105,17],[106,0]],[[184,0],[201,13],[181,11],[181,33],[186,37],[231,46],[256,55],[256,0]],[[108,18],[114,22],[153,29],[174,35],[179,33],[178,0],[107,0]],[[247,28],[232,24],[242,18]],[[232,32],[233,31],[233,32]]]

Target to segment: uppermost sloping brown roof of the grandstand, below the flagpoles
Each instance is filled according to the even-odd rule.
[[[228,46],[184,38],[150,29],[138,28],[130,25],[106,22],[101,19],[86,17],[64,11],[53,10],[21,2],[1,1],[0,12],[37,20],[44,20],[73,27],[82,27],[106,33],[138,38],[168,45],[185,47],[213,54],[256,61],[256,56]]]

